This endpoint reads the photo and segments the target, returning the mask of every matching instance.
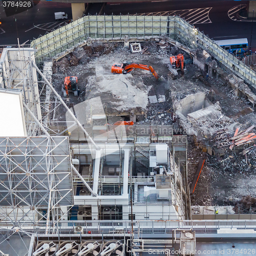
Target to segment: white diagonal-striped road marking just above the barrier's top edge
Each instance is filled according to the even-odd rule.
[[[209,8],[198,8],[198,9],[187,9],[187,10],[176,10],[176,11],[165,11],[165,12],[150,12],[150,13],[140,13],[137,15],[140,16],[180,16],[185,19],[186,22],[190,24],[202,24],[202,23],[211,23],[209,18],[209,11],[212,7]]]

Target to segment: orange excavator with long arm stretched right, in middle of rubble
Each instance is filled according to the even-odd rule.
[[[147,65],[142,65],[142,64],[137,64],[137,63],[115,63],[112,68],[111,72],[112,73],[117,73],[117,74],[127,74],[134,69],[144,69],[150,71],[156,79],[159,78],[157,72],[152,68],[152,66],[147,66]]]

